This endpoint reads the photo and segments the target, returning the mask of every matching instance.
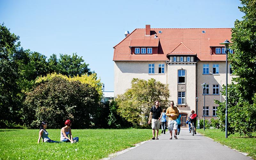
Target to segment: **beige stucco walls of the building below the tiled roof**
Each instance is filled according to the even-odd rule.
[[[148,74],[148,64],[155,64],[155,73]],[[164,64],[164,73],[158,73],[158,64]],[[203,74],[203,64],[209,64],[209,74]],[[213,64],[219,64],[219,74],[213,74]],[[170,97],[178,107],[180,113],[190,114],[191,110],[196,111],[196,97],[198,99],[198,116],[203,117],[204,94],[201,84],[209,85],[209,94],[205,95],[205,106],[209,107],[209,116],[213,116],[213,107],[216,100],[225,100],[220,95],[221,86],[226,84],[226,62],[225,61],[197,61],[197,62],[172,62],[172,61],[115,61],[115,96],[123,94],[131,88],[132,78],[148,80],[154,78],[163,84],[169,84]],[[178,70],[185,70],[185,83],[178,83]],[[228,84],[231,83],[232,74],[229,73],[228,64]],[[219,93],[213,94],[213,85],[219,85]],[[178,104],[178,92],[185,92],[185,104]]]

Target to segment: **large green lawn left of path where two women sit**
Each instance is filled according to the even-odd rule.
[[[49,138],[60,141],[60,129],[48,129]],[[148,129],[72,130],[78,143],[37,144],[39,129],[0,129],[1,159],[100,159],[141,141],[150,140]]]

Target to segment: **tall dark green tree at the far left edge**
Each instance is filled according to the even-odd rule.
[[[19,36],[10,32],[4,24],[0,24],[0,127],[3,120],[17,120],[19,110],[19,86],[17,84],[17,60],[22,58],[23,49],[20,47]]]

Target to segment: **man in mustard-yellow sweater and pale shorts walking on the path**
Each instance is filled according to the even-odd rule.
[[[170,140],[172,139],[172,130],[174,130],[174,138],[177,138],[177,128],[178,128],[178,123],[177,123],[177,116],[179,114],[179,110],[177,107],[174,106],[174,102],[171,102],[171,107],[167,108],[166,111],[166,116],[169,117],[168,121],[168,131],[170,131]]]

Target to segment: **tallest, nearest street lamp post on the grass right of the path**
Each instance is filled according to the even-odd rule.
[[[233,44],[230,43],[228,40],[226,40],[223,43],[220,43],[225,45],[225,52],[226,52],[226,120],[225,120],[225,136],[228,138],[228,45]]]

